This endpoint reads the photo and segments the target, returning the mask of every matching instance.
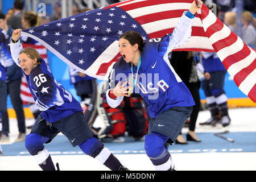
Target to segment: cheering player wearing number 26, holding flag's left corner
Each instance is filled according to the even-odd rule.
[[[85,154],[98,159],[106,167],[114,171],[127,170],[108,148],[92,137],[80,103],[55,80],[39,53],[32,48],[23,49],[19,42],[20,31],[13,32],[11,55],[26,76],[36,106],[41,111],[26,137],[28,152],[43,170],[54,171],[55,166],[44,143],[51,142],[61,132],[73,147],[78,145]]]

